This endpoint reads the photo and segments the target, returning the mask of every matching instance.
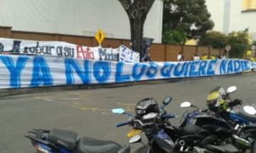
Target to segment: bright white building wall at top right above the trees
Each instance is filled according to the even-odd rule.
[[[230,2],[230,12],[225,10],[227,1]],[[256,40],[256,11],[242,12],[242,0],[206,0],[206,5],[215,23],[214,30],[225,33],[225,26],[228,25],[230,33],[250,27],[249,33]],[[229,16],[228,20],[225,20],[225,16]]]

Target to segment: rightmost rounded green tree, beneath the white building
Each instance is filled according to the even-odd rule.
[[[250,45],[250,37],[246,31],[232,32],[228,34],[228,44],[230,57],[242,58]]]

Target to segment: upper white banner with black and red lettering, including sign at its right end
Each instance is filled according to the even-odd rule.
[[[139,62],[138,52],[121,45],[122,62]],[[119,61],[119,48],[87,47],[59,41],[34,41],[0,38],[1,54],[73,57],[83,60]],[[131,56],[132,55],[132,56]]]

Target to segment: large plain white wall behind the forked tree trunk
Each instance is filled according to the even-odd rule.
[[[161,42],[163,2],[156,0],[144,37]],[[0,0],[0,26],[13,30],[130,39],[129,19],[118,0]]]

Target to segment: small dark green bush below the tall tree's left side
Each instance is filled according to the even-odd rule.
[[[166,44],[183,45],[186,42],[186,33],[178,30],[166,30],[163,34],[163,42]]]

